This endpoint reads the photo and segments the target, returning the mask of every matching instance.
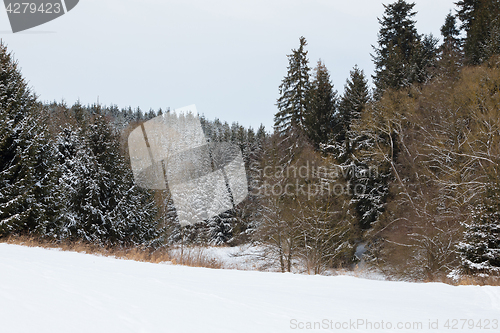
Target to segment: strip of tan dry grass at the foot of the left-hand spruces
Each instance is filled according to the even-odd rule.
[[[134,260],[158,264],[171,262],[174,265],[184,265],[191,267],[206,267],[221,269],[224,268],[222,262],[207,256],[203,249],[185,248],[182,256],[179,251],[171,251],[168,248],[156,250],[140,247],[101,247],[85,242],[51,242],[27,236],[11,236],[0,239],[1,243],[22,245],[27,247],[40,247],[46,249],[60,249],[62,251],[93,254],[103,257],[113,257],[117,259]]]

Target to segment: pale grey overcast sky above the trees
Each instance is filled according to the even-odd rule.
[[[393,1],[386,1],[390,3]],[[417,0],[419,33],[440,37],[454,0]],[[374,0],[80,0],[66,15],[0,38],[42,101],[142,110],[196,104],[200,114],[269,130],[286,55],[308,41],[343,91],[357,64],[373,73],[382,2]]]

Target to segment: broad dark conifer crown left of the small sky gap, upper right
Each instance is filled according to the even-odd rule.
[[[417,33],[413,11],[415,3],[404,0],[384,5],[385,12],[378,34],[378,47],[372,55],[375,63],[375,97],[386,89],[400,89],[428,79],[428,67],[435,58],[436,40]]]

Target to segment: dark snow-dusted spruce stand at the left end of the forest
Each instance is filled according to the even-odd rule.
[[[110,246],[160,240],[153,195],[134,185],[98,107],[44,106],[0,45],[0,236]]]

